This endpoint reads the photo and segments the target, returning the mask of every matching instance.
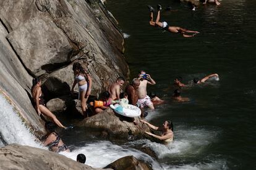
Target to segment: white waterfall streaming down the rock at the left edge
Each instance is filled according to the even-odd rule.
[[[42,148],[35,142],[35,137],[30,134],[29,129],[25,127],[14,108],[2,94],[0,94],[0,147],[6,144],[28,145],[30,147]]]

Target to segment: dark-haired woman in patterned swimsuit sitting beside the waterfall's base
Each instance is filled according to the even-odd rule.
[[[53,152],[70,152],[67,145],[63,143],[61,137],[55,132],[56,124],[52,122],[46,122],[45,128],[47,131],[46,139],[43,142],[43,145],[49,147],[49,150]]]

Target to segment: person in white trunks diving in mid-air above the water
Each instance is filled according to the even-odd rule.
[[[158,14],[156,17],[156,22],[153,22],[153,12],[155,11],[153,7],[148,6],[148,9],[150,10],[150,25],[152,26],[159,26],[165,31],[169,31],[170,33],[181,33],[184,37],[189,38],[195,36],[195,34],[198,34],[198,31],[190,31],[186,30],[185,28],[181,28],[179,26],[169,26],[167,22],[160,22],[160,10],[162,7],[158,4]],[[186,33],[194,33],[192,35],[188,35]]]

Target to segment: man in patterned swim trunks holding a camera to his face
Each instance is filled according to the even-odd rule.
[[[138,105],[140,108],[149,107],[151,110],[155,109],[150,97],[147,95],[147,84],[155,85],[156,82],[145,71],[140,71],[139,78],[140,86],[137,89],[138,92]]]

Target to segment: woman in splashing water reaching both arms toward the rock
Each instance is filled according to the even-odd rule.
[[[141,119],[140,122],[147,124],[148,127],[155,131],[161,131],[161,136],[152,134],[151,132],[145,132],[148,135],[160,139],[161,141],[163,141],[164,144],[169,144],[173,142],[173,123],[171,121],[164,121],[162,127],[156,127],[143,119]]]

